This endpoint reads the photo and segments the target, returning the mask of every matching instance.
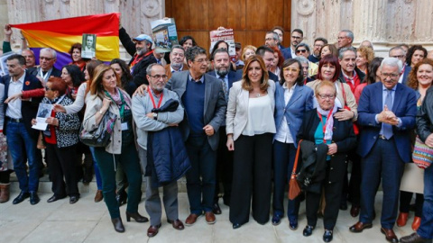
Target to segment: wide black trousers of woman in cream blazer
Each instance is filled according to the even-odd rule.
[[[269,220],[272,187],[272,133],[241,135],[235,140],[230,221],[248,222],[253,195],[253,219]]]

